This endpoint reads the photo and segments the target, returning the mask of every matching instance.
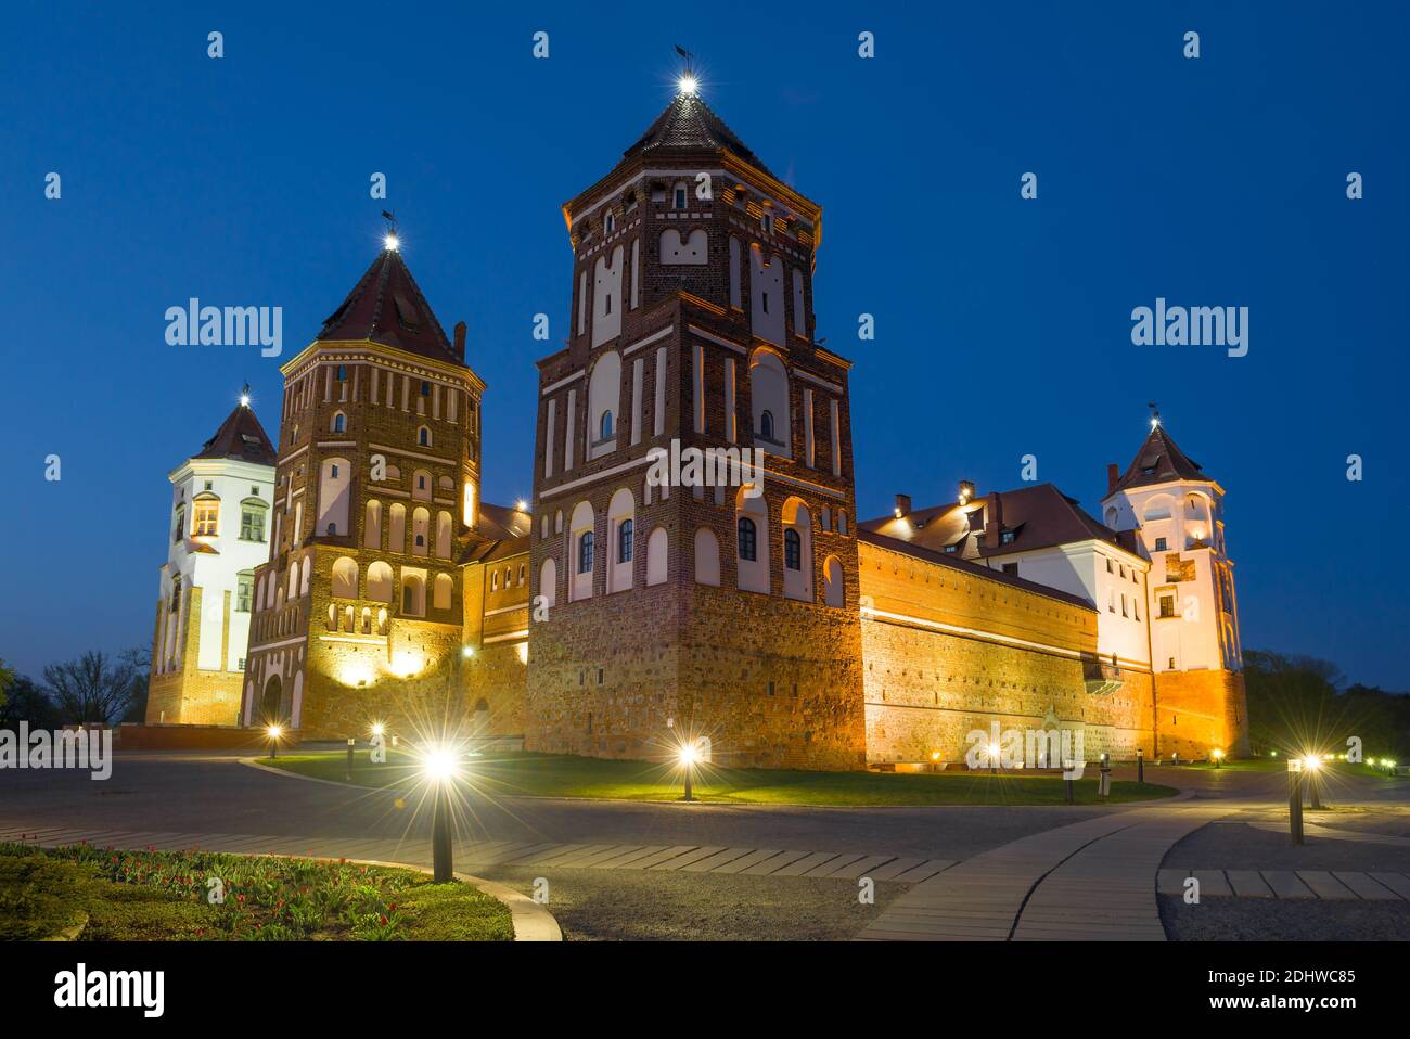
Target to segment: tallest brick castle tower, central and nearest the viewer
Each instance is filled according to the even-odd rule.
[[[819,207],[682,86],[564,219],[527,746],[653,757],[689,734],[721,763],[862,767],[850,362],[814,338]],[[657,448],[757,448],[761,488],[654,486]]]

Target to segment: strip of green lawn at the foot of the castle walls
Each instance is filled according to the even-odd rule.
[[[347,781],[347,753],[290,754],[258,758],[302,775]],[[486,797],[618,798],[623,801],[678,801],[681,775],[668,766],[644,761],[608,761],[567,754],[489,753],[467,760],[467,782]],[[1076,784],[1079,805],[1097,804],[1096,770]],[[415,760],[389,751],[386,764],[374,766],[368,751],[354,756],[352,780],[361,787],[412,792],[420,784]],[[1170,797],[1173,787],[1152,782],[1111,784],[1110,802],[1149,801]],[[1066,802],[1056,774],[1001,771],[805,773],[783,768],[697,770],[695,797],[735,805],[1060,805]]]

